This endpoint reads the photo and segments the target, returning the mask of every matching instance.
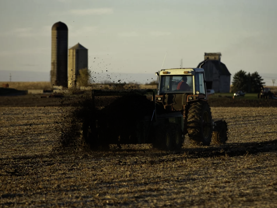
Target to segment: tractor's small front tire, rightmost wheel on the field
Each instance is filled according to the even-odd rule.
[[[228,127],[227,122],[224,120],[215,121],[215,129],[212,133],[212,142],[214,144],[225,144],[228,139]]]

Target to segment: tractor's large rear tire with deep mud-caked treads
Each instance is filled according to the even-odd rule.
[[[211,109],[207,102],[200,100],[191,104],[187,114],[187,130],[189,138],[196,145],[210,145],[211,122]]]

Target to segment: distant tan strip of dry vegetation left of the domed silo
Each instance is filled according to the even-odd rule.
[[[50,82],[0,82],[0,87],[2,87],[2,84],[9,84],[9,88],[14,88],[17,90],[51,89]]]

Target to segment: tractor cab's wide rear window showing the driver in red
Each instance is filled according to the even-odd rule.
[[[192,75],[161,76],[160,93],[193,93]]]

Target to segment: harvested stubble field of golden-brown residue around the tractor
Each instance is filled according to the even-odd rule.
[[[276,207],[277,108],[211,107],[222,146],[57,150],[59,107],[0,107],[0,207]]]

